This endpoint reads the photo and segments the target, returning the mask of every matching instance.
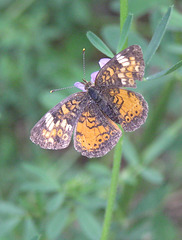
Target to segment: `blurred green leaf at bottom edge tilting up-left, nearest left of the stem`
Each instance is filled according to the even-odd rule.
[[[102,228],[94,215],[92,215],[91,212],[83,208],[77,208],[76,215],[83,233],[90,240],[99,239]]]

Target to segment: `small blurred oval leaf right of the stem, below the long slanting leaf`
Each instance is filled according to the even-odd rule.
[[[150,183],[160,184],[163,182],[163,176],[156,169],[145,168],[141,171],[141,176]]]

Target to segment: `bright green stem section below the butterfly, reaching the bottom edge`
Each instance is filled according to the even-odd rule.
[[[114,151],[111,185],[109,189],[107,208],[105,212],[104,224],[103,224],[102,235],[100,240],[109,239],[109,229],[110,229],[111,220],[112,220],[114,202],[116,199],[119,171],[120,171],[120,165],[121,165],[121,159],[122,159],[122,143],[123,143],[123,136],[120,138]]]

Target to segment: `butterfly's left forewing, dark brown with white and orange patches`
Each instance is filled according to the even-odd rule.
[[[87,93],[79,92],[58,103],[32,128],[31,141],[45,149],[66,148],[87,99]]]

